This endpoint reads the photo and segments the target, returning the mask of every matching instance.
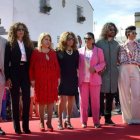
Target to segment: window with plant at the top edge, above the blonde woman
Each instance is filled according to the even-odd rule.
[[[49,14],[52,10],[50,0],[40,0],[40,12]]]

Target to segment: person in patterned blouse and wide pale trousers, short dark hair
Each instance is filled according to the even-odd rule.
[[[120,47],[119,94],[123,122],[140,124],[140,44],[136,27],[125,30],[126,42]]]

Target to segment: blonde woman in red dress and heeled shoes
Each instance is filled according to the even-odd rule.
[[[53,131],[51,124],[54,102],[57,101],[59,80],[59,64],[56,53],[52,49],[51,36],[42,33],[39,36],[38,48],[31,57],[30,80],[35,88],[35,100],[39,104],[40,130],[44,131],[44,109],[47,105],[47,128]]]

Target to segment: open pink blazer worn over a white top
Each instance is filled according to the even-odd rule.
[[[85,77],[85,47],[80,48],[79,50],[79,86],[82,82],[84,82]],[[92,57],[90,60],[90,66],[94,67],[96,70],[96,73],[90,74],[90,84],[91,85],[101,85],[102,79],[101,75],[98,74],[99,71],[103,70],[105,68],[105,60],[104,60],[104,54],[102,49],[97,48],[94,46],[92,50]]]

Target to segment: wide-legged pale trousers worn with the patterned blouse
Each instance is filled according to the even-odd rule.
[[[140,123],[140,69],[123,64],[119,73],[119,96],[124,123]]]

